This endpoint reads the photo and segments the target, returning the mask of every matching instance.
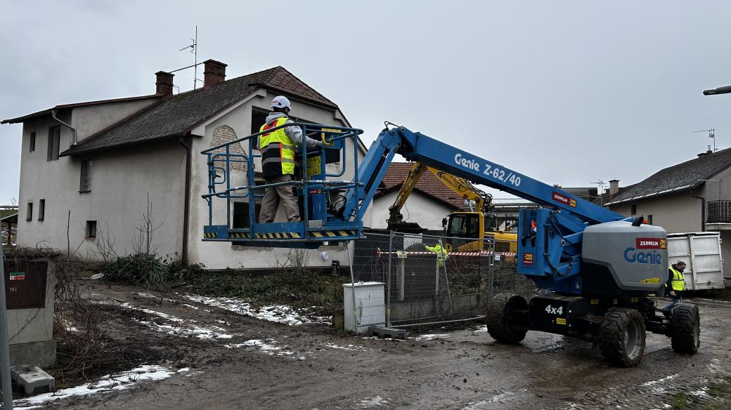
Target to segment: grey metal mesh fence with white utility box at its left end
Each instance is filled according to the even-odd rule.
[[[355,241],[356,291],[346,295],[346,308],[355,309],[346,309],[346,317],[352,314],[359,325],[401,327],[471,320],[485,314],[497,293],[537,294],[533,282],[516,272],[515,244],[513,252],[494,247],[491,240],[366,233]]]

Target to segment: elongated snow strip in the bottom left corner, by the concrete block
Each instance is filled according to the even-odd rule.
[[[178,371],[181,373],[184,369]],[[187,371],[187,370],[186,370]],[[50,401],[57,401],[72,396],[93,395],[96,393],[111,392],[113,390],[125,390],[134,386],[137,382],[156,381],[167,379],[175,374],[175,371],[159,365],[141,365],[130,371],[121,374],[102,376],[98,382],[92,384],[81,384],[77,387],[56,390],[53,393],[43,393],[30,398],[23,398],[13,401],[15,409],[35,409]]]

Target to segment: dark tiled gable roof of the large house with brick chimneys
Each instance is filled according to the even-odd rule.
[[[88,136],[77,146],[61,152],[61,155],[76,155],[188,134],[200,123],[250,96],[258,88],[270,88],[287,96],[337,108],[333,101],[317,93],[287,69],[276,66],[221,82],[207,90],[200,88],[165,98]]]

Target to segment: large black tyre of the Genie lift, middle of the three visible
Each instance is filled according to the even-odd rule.
[[[637,365],[645,352],[645,333],[645,320],[640,312],[611,308],[599,328],[599,350],[613,365]]]

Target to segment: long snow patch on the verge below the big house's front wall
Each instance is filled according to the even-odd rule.
[[[295,308],[287,305],[262,306],[260,309],[256,309],[251,306],[251,303],[239,298],[214,298],[198,295],[183,295],[183,297],[197,303],[215,306],[244,316],[268,320],[269,322],[284,323],[285,325],[302,325],[314,322],[307,317],[301,316]],[[318,318],[318,322],[326,319]]]

